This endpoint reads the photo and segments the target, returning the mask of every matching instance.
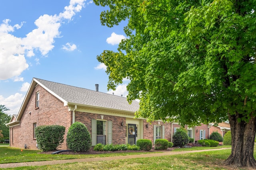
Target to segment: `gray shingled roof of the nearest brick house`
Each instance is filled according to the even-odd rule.
[[[66,102],[132,112],[139,109],[139,102],[133,101],[132,104],[129,104],[127,98],[121,96],[96,92],[94,90],[50,82],[38,78],[34,79],[54,92],[60,98],[64,99]]]

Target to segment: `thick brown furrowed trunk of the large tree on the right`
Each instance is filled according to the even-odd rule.
[[[232,150],[230,156],[224,161],[224,164],[234,167],[256,169],[256,160],[253,156],[256,118],[252,117],[248,122],[245,122],[241,120],[241,117],[242,115],[239,113],[234,115],[228,114],[232,137]]]

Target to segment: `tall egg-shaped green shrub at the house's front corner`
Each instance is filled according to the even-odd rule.
[[[81,122],[73,123],[67,134],[68,148],[74,152],[88,151],[92,146],[92,138],[87,127]]]

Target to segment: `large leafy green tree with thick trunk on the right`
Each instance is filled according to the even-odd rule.
[[[182,125],[229,120],[224,162],[256,168],[256,0],[94,0],[102,25],[128,24],[118,50],[97,57],[108,88],[129,78],[137,117]],[[166,119],[166,117],[170,117]]]

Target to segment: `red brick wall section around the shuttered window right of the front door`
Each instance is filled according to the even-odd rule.
[[[148,128],[146,128],[146,125],[148,124]],[[146,122],[146,120],[143,120],[143,139],[150,139],[153,143],[154,137],[154,125],[158,125],[158,121],[153,121],[151,124]],[[172,133],[172,124],[171,123],[163,123],[160,122],[160,125],[164,126],[164,139],[167,139],[168,141],[171,141],[171,133]]]

